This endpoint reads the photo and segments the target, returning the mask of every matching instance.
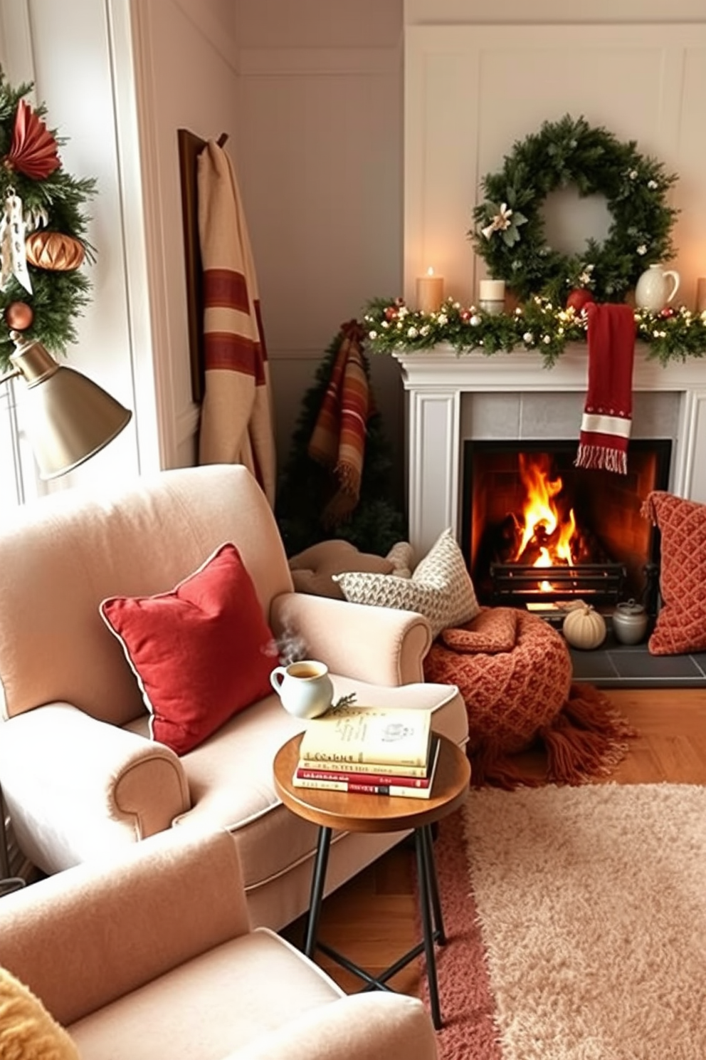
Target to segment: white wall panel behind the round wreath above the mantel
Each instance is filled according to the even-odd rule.
[[[483,176],[543,121],[572,113],[636,140],[680,175],[675,265],[692,301],[706,270],[706,139],[696,134],[705,48],[703,23],[408,26],[405,297],[414,302],[415,278],[433,253],[447,294],[473,300],[485,272],[467,232]],[[576,249],[607,224],[604,202],[586,208],[568,233]]]

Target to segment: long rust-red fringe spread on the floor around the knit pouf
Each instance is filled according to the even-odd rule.
[[[575,683],[559,714],[537,734],[546,755],[543,776],[530,774],[517,757],[486,741],[469,753],[471,782],[512,790],[543,783],[582,784],[608,776],[628,754],[637,734],[610,700],[592,685]]]

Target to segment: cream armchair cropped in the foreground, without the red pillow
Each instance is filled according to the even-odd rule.
[[[0,912],[0,965],[82,1060],[436,1057],[421,1002],[345,996],[288,942],[250,930],[227,832],[162,833],[8,895]],[[26,1040],[13,1052],[5,1012],[0,1055],[70,1055],[46,1039],[44,1052]]]

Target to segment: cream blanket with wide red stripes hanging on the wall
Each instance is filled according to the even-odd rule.
[[[241,463],[274,505],[275,448],[255,266],[231,160],[210,140],[198,158],[205,388],[199,463]]]

